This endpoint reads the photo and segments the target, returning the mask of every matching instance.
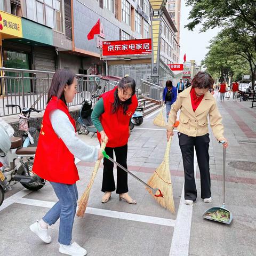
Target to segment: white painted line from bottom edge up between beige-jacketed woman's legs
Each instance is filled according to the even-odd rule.
[[[194,173],[196,180],[197,160],[194,154]],[[184,184],[180,198],[179,210],[172,236],[172,244],[169,256],[188,256],[193,206],[185,204]]]

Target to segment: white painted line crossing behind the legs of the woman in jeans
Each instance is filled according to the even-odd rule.
[[[12,198],[10,202],[9,202],[9,198],[7,198],[5,201],[7,201],[6,203],[9,205],[12,203],[18,203],[18,204],[26,204],[31,206],[47,207],[47,208],[51,208],[55,204],[55,202],[22,198],[20,196],[15,196],[14,198]],[[93,207],[86,207],[85,213],[109,217],[109,218],[122,219],[122,220],[145,222],[145,223],[162,225],[162,226],[169,226],[169,227],[175,226],[175,220],[172,220],[172,219],[165,219],[165,218],[159,218],[159,217],[153,217],[153,216],[141,215],[141,214],[135,214],[135,213],[117,212],[117,211],[110,211],[110,210],[98,209]]]

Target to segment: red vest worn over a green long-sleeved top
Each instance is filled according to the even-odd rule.
[[[107,147],[110,148],[122,147],[127,144],[130,119],[138,106],[138,100],[134,94],[132,96],[132,103],[126,110],[126,115],[123,113],[123,107],[119,107],[117,112],[113,114],[114,93],[116,90],[117,87],[101,95],[104,113],[100,116],[100,122],[108,137]],[[97,132],[97,136],[100,141],[99,132]]]

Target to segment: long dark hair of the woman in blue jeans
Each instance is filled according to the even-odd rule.
[[[70,69],[58,69],[52,77],[52,83],[48,91],[47,103],[53,96],[61,99],[67,105],[64,96],[64,88],[66,85],[71,85],[76,75]]]

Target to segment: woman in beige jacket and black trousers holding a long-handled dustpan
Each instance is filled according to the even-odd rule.
[[[201,198],[205,203],[212,202],[208,118],[214,137],[218,141],[225,141],[223,147],[228,147],[227,139],[223,137],[222,117],[218,111],[217,102],[209,92],[213,83],[210,74],[198,72],[193,78],[191,86],[178,94],[167,123],[167,141],[169,141],[173,136],[173,125],[180,110],[180,124],[177,129],[185,172],[185,204],[187,205],[193,205],[197,198],[194,178],[194,148],[201,177]]]

